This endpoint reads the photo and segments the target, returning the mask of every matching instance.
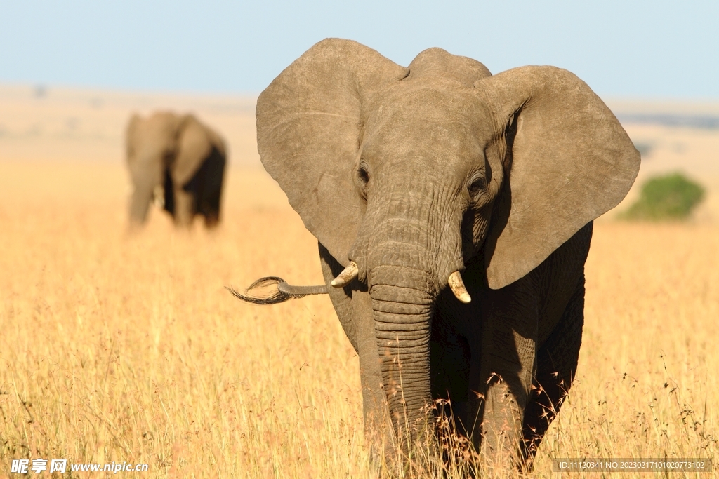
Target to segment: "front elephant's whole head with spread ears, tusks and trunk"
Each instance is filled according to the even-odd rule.
[[[257,144],[306,228],[367,285],[395,432],[431,402],[436,299],[483,262],[498,289],[619,203],[639,156],[567,70],[515,68],[438,48],[408,68],[326,39],[257,101]]]

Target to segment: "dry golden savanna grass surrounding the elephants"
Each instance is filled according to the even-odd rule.
[[[232,169],[219,231],[155,211],[128,238],[126,185],[119,164],[0,162],[0,476],[57,457],[150,465],[127,477],[375,477],[329,299],[224,290],[321,282],[278,187]],[[717,264],[713,224],[597,222],[577,381],[533,477],[557,476],[551,457],[717,456]]]

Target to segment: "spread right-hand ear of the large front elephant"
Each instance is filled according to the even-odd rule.
[[[609,108],[567,70],[514,68],[475,88],[506,125],[508,179],[485,244],[487,282],[498,289],[618,205],[640,157]]]

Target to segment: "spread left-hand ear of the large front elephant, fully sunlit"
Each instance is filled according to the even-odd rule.
[[[357,42],[325,39],[257,99],[257,150],[306,228],[346,265],[364,204],[352,171],[362,105],[408,70]]]

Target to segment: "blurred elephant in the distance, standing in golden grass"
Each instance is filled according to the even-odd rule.
[[[226,147],[216,131],[191,114],[134,114],[127,125],[126,147],[133,227],[145,223],[153,201],[179,227],[190,227],[195,215],[202,215],[208,228],[219,223]]]

